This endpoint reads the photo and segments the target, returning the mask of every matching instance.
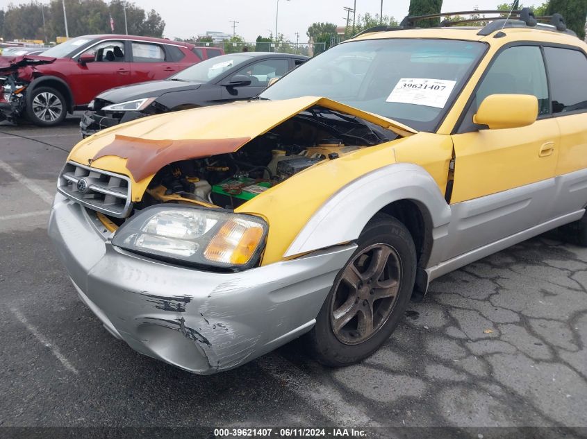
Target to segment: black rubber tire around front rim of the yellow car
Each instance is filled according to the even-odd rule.
[[[413,240],[406,227],[395,218],[378,216],[365,226],[365,230],[357,241],[358,247],[349,261],[352,261],[363,249],[376,243],[386,243],[391,246],[397,252],[402,264],[402,277],[395,306],[379,331],[363,343],[346,345],[340,342],[331,329],[331,303],[340,277],[347,268],[347,262],[336,275],[333,287],[322,304],[310,334],[317,358],[326,365],[347,365],[370,356],[385,343],[404,317],[415,281],[416,253]]]

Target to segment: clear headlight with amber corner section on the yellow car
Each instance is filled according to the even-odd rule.
[[[256,264],[266,236],[267,223],[257,216],[156,205],[124,223],[112,243],[180,264],[244,270]]]

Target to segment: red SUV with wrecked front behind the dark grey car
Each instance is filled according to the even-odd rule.
[[[61,123],[113,87],[165,79],[221,49],[131,35],[85,35],[42,55],[0,57],[0,121]]]

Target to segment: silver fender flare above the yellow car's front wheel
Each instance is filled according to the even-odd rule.
[[[450,206],[431,175],[415,164],[390,164],[367,173],[333,194],[297,234],[284,257],[354,241],[383,207],[414,200],[431,217],[433,239],[448,232]]]

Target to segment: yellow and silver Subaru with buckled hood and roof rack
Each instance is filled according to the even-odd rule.
[[[416,21],[74,147],[49,234],[113,336],[198,374],[306,333],[347,365],[432,279],[561,225],[587,244],[587,45],[529,10]]]

